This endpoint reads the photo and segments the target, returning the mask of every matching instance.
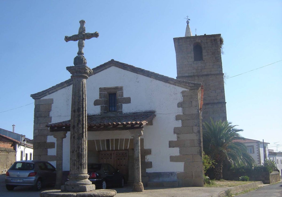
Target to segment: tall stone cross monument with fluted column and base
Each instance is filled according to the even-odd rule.
[[[86,66],[83,56],[85,39],[98,37],[99,33],[85,33],[85,21],[79,21],[78,34],[66,36],[65,41],[78,41],[78,53],[74,66],[67,70],[72,74],[72,103],[70,116],[70,174],[69,180],[61,187],[62,191],[86,192],[95,189],[87,174],[87,113],[86,113],[86,79],[92,70]]]

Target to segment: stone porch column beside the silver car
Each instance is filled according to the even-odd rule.
[[[63,138],[66,138],[67,131],[54,132],[54,138],[57,139],[56,143],[56,189],[60,189],[63,177]]]

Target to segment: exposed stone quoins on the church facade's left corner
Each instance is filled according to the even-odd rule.
[[[49,148],[55,148],[55,142],[47,142],[47,136],[53,134],[46,127],[52,120],[50,111],[53,99],[36,99],[34,102],[33,159],[56,161],[56,155],[48,155]]]

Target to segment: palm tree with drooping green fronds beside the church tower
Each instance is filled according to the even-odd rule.
[[[204,122],[203,148],[204,152],[215,160],[214,176],[216,180],[222,179],[222,163],[228,160],[233,165],[252,165],[253,158],[248,154],[244,144],[234,143],[232,140],[244,139],[238,132],[243,129],[236,129],[232,122],[213,121]]]

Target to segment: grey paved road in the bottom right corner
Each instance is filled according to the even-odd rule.
[[[282,197],[282,182],[267,185],[245,194],[239,194],[238,197]]]

